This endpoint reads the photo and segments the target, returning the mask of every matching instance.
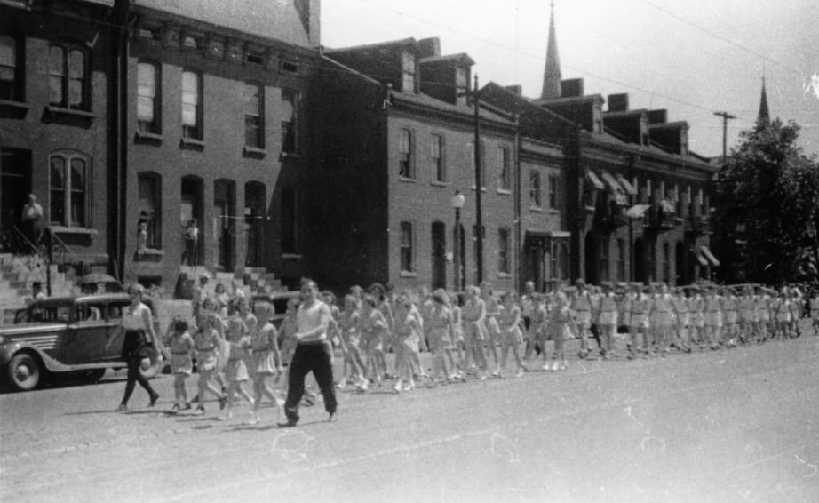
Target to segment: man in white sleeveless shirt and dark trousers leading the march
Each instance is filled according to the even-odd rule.
[[[317,299],[318,287],[310,279],[301,281],[301,306],[298,307],[298,341],[296,352],[290,361],[290,375],[287,383],[287,400],[284,402],[284,413],[287,422],[279,427],[294,427],[298,423],[298,403],[305,393],[305,377],[312,371],[315,380],[324,396],[324,410],[330,416],[327,420],[336,420],[336,390],[333,387],[332,347],[327,339],[327,328],[330,326],[330,307]]]

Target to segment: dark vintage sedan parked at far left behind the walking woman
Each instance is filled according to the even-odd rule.
[[[155,313],[157,302],[143,302]],[[126,293],[38,300],[17,312],[14,324],[0,327],[0,384],[20,391],[34,389],[45,378],[72,373],[99,380],[106,369],[123,369],[122,335],[111,339],[131,303]],[[143,375],[154,377],[162,362],[146,359]]]

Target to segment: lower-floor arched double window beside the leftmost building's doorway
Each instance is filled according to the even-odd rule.
[[[49,160],[49,215],[52,225],[88,227],[86,193],[91,180],[89,160],[60,152]]]

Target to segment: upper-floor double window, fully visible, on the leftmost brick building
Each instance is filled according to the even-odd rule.
[[[87,110],[90,92],[86,53],[73,45],[52,45],[49,50],[49,103]]]

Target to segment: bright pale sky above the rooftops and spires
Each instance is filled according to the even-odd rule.
[[[549,10],[548,0],[325,0],[322,44],[438,36],[444,54],[472,56],[481,86],[538,97]],[[816,0],[555,0],[554,15],[562,78],[604,98],[628,92],[630,108],[666,108],[688,121],[698,154],[722,154],[714,112],[736,116],[728,149],[754,124],[764,73],[772,118],[796,121],[799,145],[819,155]]]

